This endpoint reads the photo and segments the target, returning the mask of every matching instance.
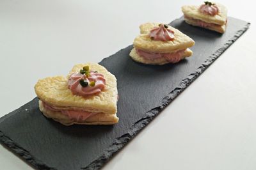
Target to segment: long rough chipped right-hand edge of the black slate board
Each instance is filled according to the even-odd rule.
[[[174,20],[173,20],[174,22]],[[170,23],[172,24],[172,22]],[[100,169],[100,167],[104,166],[104,164],[111,158],[113,155],[121,150],[127,144],[136,134],[138,134],[150,121],[152,121],[163,109],[170,104],[175,97],[177,97],[184,89],[186,89],[191,82],[195,81],[195,79],[201,75],[206,68],[208,68],[225,50],[228,49],[232,43],[234,43],[243,33],[250,27],[250,22],[248,22],[243,29],[237,31],[236,35],[234,35],[233,38],[227,41],[223,47],[216,50],[211,56],[209,56],[204,63],[199,66],[195,72],[188,75],[186,79],[183,79],[179,86],[175,88],[173,91],[171,91],[166,97],[163,98],[163,101],[161,102],[161,105],[158,107],[155,107],[154,109],[151,109],[150,111],[143,114],[143,117],[136,121],[132,125],[132,127],[129,129],[129,131],[116,138],[115,143],[111,144],[109,148],[104,150],[104,153],[99,158],[93,160],[91,164],[89,164],[87,167],[81,167],[81,169]]]

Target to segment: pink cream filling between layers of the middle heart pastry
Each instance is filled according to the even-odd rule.
[[[138,53],[139,56],[145,59],[154,60],[154,59],[164,58],[170,63],[177,63],[184,56],[185,50],[186,49],[178,50],[177,52],[172,52],[172,53],[157,53],[157,52],[146,52],[144,50],[136,49],[136,52]]]

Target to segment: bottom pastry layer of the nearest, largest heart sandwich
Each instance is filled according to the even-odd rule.
[[[95,114],[89,118],[87,118],[83,122],[77,122],[75,120],[70,120],[68,116],[65,114],[62,114],[61,112],[56,111],[50,111],[49,109],[46,109],[44,105],[42,104],[42,101],[39,100],[39,109],[42,111],[44,116],[47,118],[51,118],[55,121],[59,121],[63,125],[74,125],[74,124],[80,124],[80,125],[113,125],[115,123],[118,123],[118,117],[116,117],[116,114],[106,114],[106,113],[99,113]]]

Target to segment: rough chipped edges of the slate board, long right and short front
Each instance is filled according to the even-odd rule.
[[[172,22],[171,22],[172,23]],[[232,43],[234,43],[239,36],[243,35],[243,33],[248,29],[250,26],[250,23],[247,23],[243,29],[237,31],[236,35],[228,40],[223,47],[216,50],[209,58],[196,69],[195,72],[188,75],[186,79],[183,79],[179,86],[175,88],[173,91],[171,91],[166,97],[163,98],[163,101],[161,102],[161,105],[159,107],[156,107],[154,109],[151,109],[150,111],[143,114],[143,117],[136,121],[134,125],[129,129],[129,131],[116,138],[115,142],[109,146],[106,150],[104,150],[103,155],[101,155],[99,158],[93,160],[91,164],[89,164],[87,167],[81,167],[81,169],[100,169],[108,160],[109,158],[113,157],[117,151],[121,150],[127,144],[140,130],[142,130],[150,121],[152,121],[163,109],[170,104],[170,102],[173,101],[175,97],[177,97],[185,88],[191,84],[191,82],[195,81],[195,79],[204,72],[204,70],[210,66]],[[122,49],[121,49],[122,50]],[[115,55],[115,54],[113,54]],[[15,111],[13,111],[15,112]],[[12,114],[11,112],[10,114]],[[7,114],[1,118],[1,121],[3,121],[5,118],[8,118],[12,115]],[[5,144],[10,150],[12,150],[14,153],[19,155],[23,160],[26,160],[29,162],[32,166],[34,166],[36,169],[51,169],[54,170],[55,168],[49,167],[45,165],[42,161],[38,160],[37,158],[33,157],[28,151],[26,151],[24,148],[19,146],[19,144],[16,144],[15,141],[7,137],[3,134],[3,132],[0,130],[0,143]]]

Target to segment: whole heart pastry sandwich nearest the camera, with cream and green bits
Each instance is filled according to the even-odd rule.
[[[118,122],[115,75],[97,63],[75,65],[67,77],[40,79],[39,109],[63,125],[112,125]]]

